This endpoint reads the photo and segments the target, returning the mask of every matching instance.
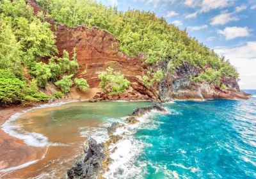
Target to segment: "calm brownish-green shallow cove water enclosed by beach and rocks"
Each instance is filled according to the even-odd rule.
[[[0,170],[0,178],[65,178],[83,153],[86,137],[107,137],[106,127],[150,102],[72,102],[15,115],[3,130],[44,151],[38,159],[14,169]]]

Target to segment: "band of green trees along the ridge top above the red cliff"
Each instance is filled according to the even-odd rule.
[[[184,61],[190,65],[210,65],[221,77],[237,78],[236,69],[185,31],[172,26],[152,12],[118,12],[93,0],[36,0],[60,24],[86,25],[106,29],[120,40],[121,51],[130,56],[143,53],[148,64],[169,61],[172,72]]]

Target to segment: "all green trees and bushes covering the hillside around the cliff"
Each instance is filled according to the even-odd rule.
[[[225,58],[152,12],[118,12],[116,7],[106,7],[92,0],[36,0],[46,13],[34,15],[27,3],[25,0],[2,0],[0,4],[1,103],[59,98],[67,94],[72,85],[84,91],[90,88],[85,79],[74,79],[79,68],[76,49],[74,54],[65,51],[61,58],[58,57],[55,36],[47,18],[55,20],[55,29],[58,24],[105,29],[118,38],[120,51],[140,56],[149,68],[159,65],[159,61],[166,62],[167,70],[157,68],[154,74],[148,71],[143,76],[145,86],[157,84],[184,62],[202,69],[201,74],[191,75],[190,80],[195,83],[206,81],[227,89],[221,79],[238,77],[236,69]],[[43,63],[42,59],[49,59],[49,62]],[[106,79],[102,75],[100,78]],[[116,89],[113,91],[123,91],[119,88],[126,83],[125,79],[121,82],[118,79],[119,83],[117,79],[111,80],[112,88]],[[49,82],[60,89],[51,97],[39,90]]]

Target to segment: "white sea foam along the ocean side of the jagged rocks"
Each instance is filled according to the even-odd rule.
[[[103,176],[106,178],[131,178],[134,174],[141,173],[143,167],[146,164],[140,164],[140,166],[135,166],[134,160],[136,157],[143,151],[143,148],[148,144],[137,140],[133,134],[140,128],[145,127],[147,125],[148,128],[156,128],[157,124],[152,120],[153,116],[161,114],[159,111],[153,110],[150,113],[147,113],[140,118],[138,118],[138,123],[133,125],[124,123],[125,118],[120,119],[120,123],[124,124],[124,127],[120,127],[116,129],[114,135],[122,135],[123,139],[121,139],[118,143],[111,144],[109,146],[109,150],[115,150],[115,152],[110,154],[111,159],[113,161],[109,164],[109,171],[107,171]],[[137,177],[137,176],[136,176]],[[142,178],[142,176],[140,176]],[[137,177],[138,178],[138,177]]]

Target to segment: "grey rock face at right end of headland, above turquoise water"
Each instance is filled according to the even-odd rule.
[[[183,63],[175,70],[172,79],[172,97],[176,99],[209,99],[209,98],[230,98],[246,99],[246,93],[239,90],[236,79],[221,79],[221,83],[226,84],[228,90],[207,82],[195,84],[189,77],[200,74],[202,70],[195,66]]]

